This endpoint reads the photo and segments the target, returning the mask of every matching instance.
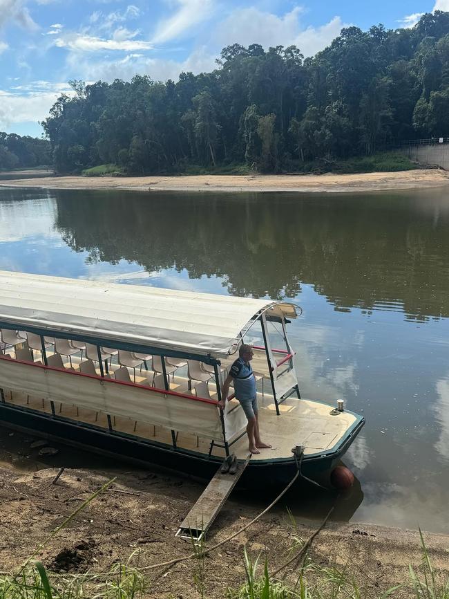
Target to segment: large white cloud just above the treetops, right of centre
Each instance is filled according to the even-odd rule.
[[[301,28],[299,17],[302,12],[303,9],[296,6],[278,17],[254,6],[238,8],[218,26],[215,39],[222,46],[235,42],[242,46],[260,44],[264,48],[295,45],[305,56],[312,56],[328,46],[347,26],[340,17],[334,17],[320,27]]]

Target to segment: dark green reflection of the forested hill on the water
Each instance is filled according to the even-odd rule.
[[[423,320],[449,315],[449,211],[439,194],[411,203],[399,193],[57,192],[56,225],[90,261],[223,277],[235,295],[294,297],[307,283],[336,309]]]

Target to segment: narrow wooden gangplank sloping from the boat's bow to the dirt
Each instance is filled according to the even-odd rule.
[[[240,479],[242,472],[248,466],[250,459],[251,454],[248,454],[245,462],[238,464],[236,474],[229,474],[229,472],[223,474],[221,466],[218,468],[213,479],[211,479],[200,497],[198,497],[193,508],[191,508],[190,512],[181,522],[178,532],[175,535],[176,537],[188,541],[202,540],[202,537],[209,530],[221,508],[225,505],[227,498],[238,483],[238,479]]]

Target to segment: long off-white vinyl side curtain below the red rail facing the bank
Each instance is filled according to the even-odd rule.
[[[164,394],[149,387],[120,385],[9,358],[0,358],[0,387],[223,442],[216,405]]]

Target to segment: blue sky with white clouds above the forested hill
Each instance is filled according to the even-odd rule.
[[[0,131],[40,137],[69,80],[176,80],[235,42],[312,56],[345,26],[413,26],[432,10],[449,0],[0,0]]]

